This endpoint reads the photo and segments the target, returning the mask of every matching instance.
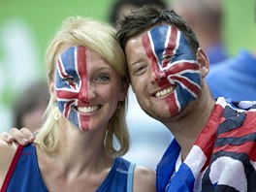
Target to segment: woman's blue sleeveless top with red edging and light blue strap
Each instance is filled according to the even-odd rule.
[[[134,168],[135,164],[121,157],[115,158],[110,173],[96,191],[132,192]],[[1,192],[5,191],[5,188],[7,192],[48,191],[40,174],[35,145],[18,145]]]

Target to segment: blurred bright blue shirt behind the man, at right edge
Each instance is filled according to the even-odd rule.
[[[210,67],[206,80],[214,98],[255,101],[256,58],[241,49],[236,57]]]

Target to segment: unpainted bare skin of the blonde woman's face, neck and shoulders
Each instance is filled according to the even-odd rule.
[[[86,191],[95,191],[108,176],[113,163],[113,158],[106,153],[102,141],[117,102],[126,96],[127,87],[121,83],[112,67],[98,54],[86,48],[83,50],[87,59],[87,90],[80,90],[76,99],[78,99],[79,107],[84,107],[84,103],[88,100],[87,106],[100,106],[100,108],[93,112],[77,112],[82,113],[80,115],[88,116],[88,118],[80,118],[84,121],[89,119],[84,123],[86,124],[85,129],[83,126],[77,127],[69,115],[62,115],[58,125],[65,135],[65,141],[60,143],[60,149],[54,154],[48,155],[36,145],[40,173],[49,191],[79,192],[84,191],[84,188]],[[85,78],[84,75],[83,78]],[[57,83],[59,83],[58,80],[49,82],[53,102],[57,102],[60,98],[56,90]],[[18,136],[16,134],[14,136],[21,139],[19,141],[21,144],[33,142],[34,137],[27,129],[21,129],[16,133]],[[26,136],[24,137],[24,135]],[[1,139],[6,136],[1,134]],[[8,141],[10,139],[12,141],[14,138],[9,138]],[[4,158],[1,157],[0,186],[15,155],[16,146],[16,143],[7,144],[0,140],[0,154],[5,154]],[[56,164],[56,162],[58,163]],[[137,166],[133,190],[138,192],[155,191],[154,172]]]

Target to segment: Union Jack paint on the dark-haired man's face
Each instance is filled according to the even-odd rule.
[[[160,87],[175,86],[173,94],[165,98],[174,115],[201,92],[199,65],[185,36],[174,26],[161,25],[144,33],[144,50],[152,76]]]

